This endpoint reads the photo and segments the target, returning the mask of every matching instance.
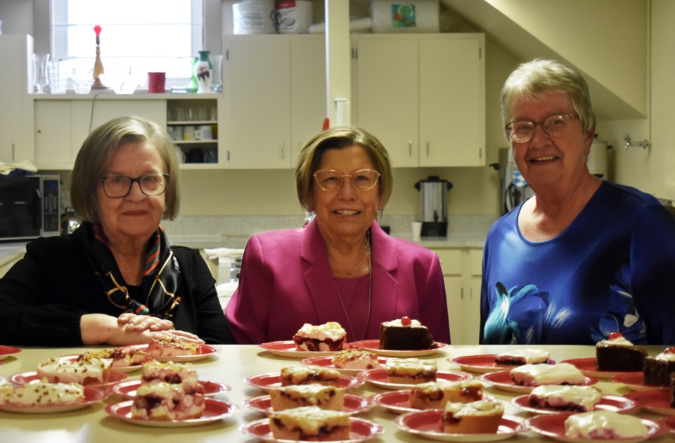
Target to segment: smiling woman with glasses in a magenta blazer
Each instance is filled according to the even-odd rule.
[[[340,323],[348,341],[378,339],[380,323],[409,316],[449,342],[435,253],[387,236],[375,219],[392,193],[378,139],[335,127],[307,141],[295,167],[304,228],[252,236],[226,307],[237,343],[291,340],[304,323]]]

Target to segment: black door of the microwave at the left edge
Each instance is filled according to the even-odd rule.
[[[40,177],[0,179],[0,238],[39,237]]]

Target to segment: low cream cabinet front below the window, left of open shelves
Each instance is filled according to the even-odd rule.
[[[39,169],[72,169],[92,129],[120,115],[167,124],[166,100],[106,96],[44,96],[34,103],[35,163]]]

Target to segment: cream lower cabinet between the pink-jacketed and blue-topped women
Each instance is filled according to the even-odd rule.
[[[482,249],[438,248],[453,345],[477,345],[480,327]]]

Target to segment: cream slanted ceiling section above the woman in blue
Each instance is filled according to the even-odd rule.
[[[519,62],[555,58],[589,82],[599,120],[648,113],[649,0],[440,0]]]

